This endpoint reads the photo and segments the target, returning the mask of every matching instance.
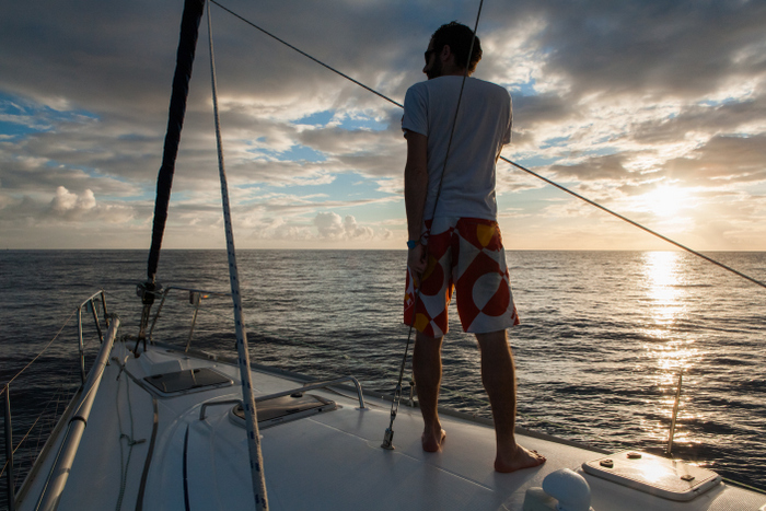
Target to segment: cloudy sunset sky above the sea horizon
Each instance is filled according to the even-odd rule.
[[[478,1],[220,0],[402,103]],[[0,248],[148,248],[183,1],[3,0]],[[237,248],[405,248],[402,111],[211,5]],[[486,0],[503,156],[698,251],[766,251],[766,2]],[[223,248],[206,19],[164,248]],[[499,162],[508,249],[672,249]]]

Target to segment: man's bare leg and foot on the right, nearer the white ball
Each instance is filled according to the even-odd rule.
[[[481,382],[489,395],[495,419],[495,469],[514,472],[542,465],[545,457],[519,445],[513,434],[517,417],[517,379],[506,330],[476,334],[476,339],[481,352]]]

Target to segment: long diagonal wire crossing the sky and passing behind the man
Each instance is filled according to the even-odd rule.
[[[256,30],[263,32],[264,34],[266,34],[266,35],[268,35],[269,37],[271,37],[271,38],[278,40],[279,43],[283,44],[285,46],[287,46],[287,47],[289,47],[289,48],[291,48],[291,49],[298,51],[298,53],[301,54],[302,56],[304,56],[304,57],[306,57],[306,58],[313,60],[314,62],[318,63],[320,66],[322,66],[322,67],[324,67],[324,68],[326,68],[326,69],[333,71],[334,73],[336,73],[336,74],[338,74],[338,76],[340,76],[340,77],[343,77],[343,78],[345,78],[345,79],[347,79],[347,80],[349,80],[349,81],[351,81],[351,82],[353,82],[353,83],[356,83],[357,85],[361,86],[362,89],[365,89],[367,91],[372,92],[373,94],[375,94],[376,96],[379,96],[379,97],[381,97],[381,98],[387,101],[388,103],[392,103],[392,104],[398,106],[399,108],[404,108],[404,105],[402,105],[401,103],[397,103],[396,101],[392,100],[391,97],[388,97],[388,96],[386,96],[386,95],[384,95],[384,94],[382,94],[382,93],[375,91],[374,89],[372,89],[372,88],[370,88],[370,86],[363,84],[362,82],[360,82],[360,81],[358,81],[358,80],[355,80],[353,78],[349,77],[348,74],[345,74],[345,73],[338,71],[337,69],[335,69],[335,68],[333,68],[333,67],[326,65],[325,62],[318,60],[317,58],[312,57],[311,55],[306,54],[305,51],[303,51],[303,50],[297,48],[295,46],[291,45],[290,43],[288,43],[288,42],[286,42],[286,40],[279,38],[279,37],[277,37],[276,35],[271,34],[270,32],[266,31],[265,28],[262,28],[260,26],[256,25],[256,24],[253,23],[252,21],[249,21],[249,20],[243,18],[242,15],[240,15],[240,14],[237,14],[236,12],[232,11],[231,9],[229,9],[229,8],[227,8],[227,7],[222,5],[222,4],[220,4],[218,1],[216,1],[216,0],[210,0],[210,3],[214,3],[214,4],[218,5],[219,8],[223,9],[223,10],[227,11],[227,12],[229,12],[229,13],[230,13],[231,15],[233,15],[234,18],[237,18],[237,19],[242,20],[243,22],[247,23],[247,24],[251,25],[252,27],[254,27],[254,28],[256,28]],[[480,11],[480,9],[479,9],[479,11]],[[732,274],[734,274],[734,275],[736,275],[736,276],[739,276],[739,277],[742,277],[742,278],[744,278],[744,279],[746,279],[746,280],[748,280],[748,281],[751,281],[751,282],[753,282],[753,283],[755,283],[755,284],[757,284],[757,286],[761,286],[762,288],[766,288],[766,282],[762,282],[762,281],[759,281],[759,280],[756,280],[756,279],[754,279],[754,278],[752,278],[752,277],[750,277],[750,276],[747,276],[747,275],[745,275],[745,274],[743,274],[743,272],[741,272],[741,271],[739,271],[739,270],[736,270],[736,269],[734,269],[734,268],[732,268],[732,267],[730,267],[730,266],[724,265],[723,263],[720,263],[720,262],[718,262],[718,260],[716,260],[716,259],[712,259],[712,258],[710,258],[710,257],[708,257],[708,256],[706,256],[706,255],[704,255],[704,254],[701,254],[701,253],[699,253],[699,252],[697,252],[697,251],[695,251],[695,249],[693,249],[693,248],[689,248],[689,247],[687,247],[687,246],[685,246],[685,245],[682,245],[681,243],[677,243],[677,242],[671,240],[671,239],[668,237],[668,236],[664,236],[664,235],[662,235],[662,234],[660,234],[660,233],[658,233],[658,232],[655,232],[655,231],[652,231],[651,229],[648,229],[648,228],[641,225],[640,223],[635,222],[635,221],[628,219],[627,217],[624,217],[624,216],[622,216],[622,214],[619,214],[619,213],[617,213],[617,212],[615,212],[615,211],[612,211],[611,209],[607,209],[607,208],[601,206],[600,204],[597,204],[597,202],[595,202],[595,201],[593,201],[593,200],[591,200],[591,199],[589,199],[589,198],[587,198],[587,197],[583,197],[582,195],[577,194],[576,191],[572,191],[572,190],[570,190],[569,188],[566,188],[565,186],[561,186],[561,185],[559,185],[559,184],[557,184],[557,183],[555,183],[555,182],[548,179],[547,177],[544,177],[544,176],[542,176],[542,175],[539,175],[539,174],[537,174],[537,173],[535,173],[535,172],[532,172],[532,171],[530,171],[529,169],[525,169],[524,166],[522,166],[522,165],[520,165],[520,164],[518,164],[518,163],[515,163],[515,162],[512,162],[511,160],[507,159],[506,156],[502,156],[502,155],[501,155],[500,159],[501,159],[502,161],[504,161],[504,162],[507,162],[507,163],[509,163],[509,164],[515,166],[517,169],[519,169],[519,170],[521,170],[521,171],[523,171],[523,172],[526,172],[527,174],[530,174],[530,175],[532,175],[532,176],[534,176],[534,177],[537,177],[538,179],[542,179],[542,181],[544,181],[545,183],[547,183],[547,184],[549,184],[549,185],[552,185],[552,186],[555,186],[556,188],[558,188],[558,189],[560,189],[560,190],[562,190],[562,191],[566,191],[567,194],[572,195],[573,197],[577,197],[577,198],[579,198],[579,199],[581,199],[581,200],[583,200],[583,201],[590,204],[591,206],[595,206],[596,208],[601,209],[602,211],[605,211],[605,212],[607,212],[607,213],[610,213],[610,214],[612,214],[612,216],[614,216],[614,217],[616,217],[616,218],[618,218],[618,219],[620,219],[620,220],[624,220],[624,221],[630,223],[630,224],[634,225],[634,227],[637,227],[638,229],[641,229],[642,231],[645,231],[645,232],[647,232],[647,233],[649,233],[649,234],[652,234],[652,235],[654,235],[654,236],[657,236],[657,237],[659,237],[659,239],[661,239],[661,240],[663,240],[663,241],[665,241],[665,242],[668,242],[668,243],[670,243],[670,244],[672,244],[672,245],[674,245],[674,246],[676,246],[676,247],[678,247],[678,248],[682,248],[682,249],[688,252],[689,254],[696,255],[697,257],[700,257],[700,258],[707,260],[708,263],[711,263],[711,264],[713,264],[713,265],[716,265],[716,266],[718,266],[718,267],[720,267],[720,268],[723,268],[723,269],[726,269],[726,270],[728,270],[728,271],[731,271]]]

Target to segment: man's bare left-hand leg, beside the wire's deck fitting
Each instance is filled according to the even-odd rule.
[[[422,414],[422,450],[437,452],[444,441],[444,430],[439,422],[439,386],[441,385],[441,341],[443,337],[415,336],[413,374],[418,390],[418,403]]]

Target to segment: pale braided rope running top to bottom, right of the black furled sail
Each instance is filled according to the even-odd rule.
[[[231,222],[231,208],[229,206],[229,187],[227,173],[223,167],[223,142],[221,140],[221,123],[218,115],[218,94],[216,86],[216,59],[212,50],[212,22],[210,19],[210,4],[208,11],[208,43],[210,46],[210,82],[212,85],[212,107],[216,119],[216,144],[218,148],[218,174],[221,181],[221,202],[223,207],[223,223],[227,234],[227,255],[229,257],[229,282],[234,305],[234,324],[236,326],[236,350],[240,361],[240,380],[242,382],[242,404],[245,410],[245,427],[247,430],[247,450],[249,453],[251,478],[253,483],[253,497],[257,511],[268,510],[268,497],[266,495],[266,478],[264,476],[264,457],[260,451],[260,433],[256,416],[255,397],[253,396],[253,376],[249,370],[249,350],[247,348],[247,334],[245,332],[244,312],[242,310],[242,295],[240,294],[240,276],[236,269],[236,252],[234,249],[234,231]],[[188,434],[188,430],[187,430]]]

